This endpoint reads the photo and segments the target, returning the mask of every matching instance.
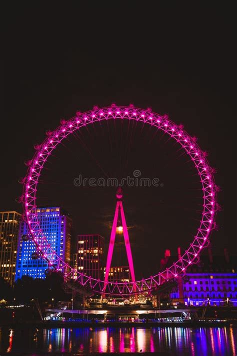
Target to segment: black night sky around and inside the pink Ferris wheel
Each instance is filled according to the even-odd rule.
[[[168,114],[208,151],[222,207],[213,250],[236,253],[232,9],[63,4],[6,9],[0,210],[21,211],[17,180],[47,130],[77,110],[132,103]],[[46,164],[37,203],[68,210],[73,236],[100,233],[108,242],[115,209],[115,188],[75,187],[74,178],[121,178],[138,169],[163,186],[124,187],[136,276],[156,272],[166,248],[172,254],[177,246],[187,248],[198,227],[202,194],[195,169],[174,141],[148,125],[103,122],[63,144]],[[115,252],[113,262],[126,263],[123,246]]]

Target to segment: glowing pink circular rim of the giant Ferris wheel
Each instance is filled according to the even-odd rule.
[[[97,121],[119,119],[136,120],[147,123],[155,128],[162,130],[171,136],[190,156],[200,178],[203,193],[203,210],[200,226],[197,229],[194,240],[185,251],[185,253],[170,267],[146,279],[135,282],[104,282],[99,279],[88,277],[65,263],[60,256],[51,248],[40,228],[36,214],[36,191],[38,179],[44,163],[50,156],[55,147],[63,139],[81,127],[92,124]],[[208,245],[211,230],[215,226],[214,217],[217,208],[216,186],[213,179],[212,169],[209,166],[206,155],[182,128],[174,124],[166,116],[153,113],[150,110],[142,110],[129,107],[105,107],[95,109],[85,113],[77,112],[76,116],[62,124],[53,132],[47,133],[46,139],[39,146],[36,146],[36,152],[31,161],[28,161],[28,170],[24,178],[24,188],[21,200],[23,202],[24,218],[27,222],[32,239],[37,247],[38,255],[42,256],[52,269],[63,272],[65,278],[76,280],[80,285],[91,288],[96,293],[108,295],[130,295],[133,293],[142,293],[157,288],[163,282],[183,274],[185,269],[192,263],[198,261],[198,254],[201,249]]]

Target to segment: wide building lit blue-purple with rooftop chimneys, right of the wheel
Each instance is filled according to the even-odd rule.
[[[166,265],[174,262],[170,254],[161,260]],[[163,265],[164,266],[164,265]],[[208,255],[202,255],[197,264],[188,267],[182,278],[177,278],[177,286],[169,295],[175,304],[183,300],[185,305],[237,305],[237,258],[229,256],[224,249],[222,256],[213,256],[211,248]]]

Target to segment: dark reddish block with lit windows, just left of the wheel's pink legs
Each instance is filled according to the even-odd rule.
[[[74,268],[96,279],[103,277],[104,238],[101,235],[78,235]]]

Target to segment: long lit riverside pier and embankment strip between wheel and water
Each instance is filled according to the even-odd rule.
[[[96,323],[187,323],[199,322],[237,322],[236,307],[216,307],[205,305],[186,308],[107,308],[107,309],[45,309],[44,321],[52,322],[96,322]]]

